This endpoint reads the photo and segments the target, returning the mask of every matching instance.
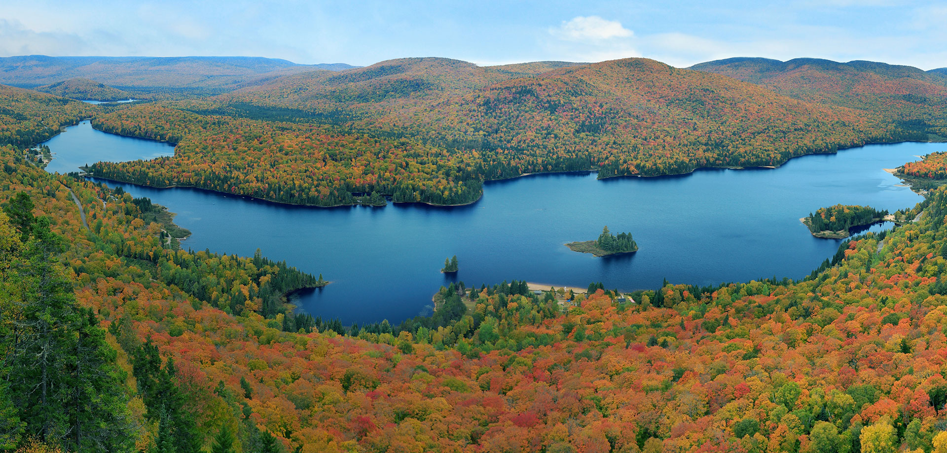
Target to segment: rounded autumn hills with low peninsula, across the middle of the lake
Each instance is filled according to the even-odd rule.
[[[656,61],[565,65],[518,78],[489,69],[384,61],[101,114],[98,129],[179,143],[178,152],[91,171],[322,206],[365,202],[361,194],[372,192],[458,204],[477,200],[483,181],[526,173],[597,169],[606,178],[777,166],[911,136],[860,111]],[[337,151],[343,142],[346,151]]]

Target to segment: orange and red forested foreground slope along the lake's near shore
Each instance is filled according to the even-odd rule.
[[[302,322],[316,329],[300,333],[284,314],[262,316],[262,298],[234,302],[282,268],[167,250],[129,196],[49,176],[12,148],[2,155],[12,167],[0,173],[5,250],[47,252],[4,253],[4,300],[16,303],[3,305],[0,340],[45,328],[13,320],[65,316],[77,321],[57,335],[99,351],[50,350],[66,366],[47,377],[56,404],[44,406],[21,399],[40,397],[26,392],[41,382],[25,361],[37,346],[2,348],[2,373],[17,376],[0,380],[14,382],[0,393],[8,444],[34,435],[81,451],[107,439],[114,451],[930,452],[947,436],[944,190],[918,207],[919,222],[845,242],[801,282],[669,285],[621,304],[599,290],[568,305],[519,285],[451,287],[441,309],[461,309],[435,324]],[[21,191],[32,218],[16,208],[27,205],[14,198]],[[62,252],[42,248],[51,234],[64,236]],[[222,265],[233,271],[206,273]],[[18,279],[57,268],[60,292],[23,291]],[[185,270],[209,287],[183,283]],[[53,294],[59,305],[43,304]],[[23,306],[39,311],[8,311]],[[88,333],[70,336],[79,331]],[[104,374],[81,371],[93,365]],[[78,382],[109,389],[109,404],[60,396]],[[112,420],[111,430],[74,441],[86,420]]]

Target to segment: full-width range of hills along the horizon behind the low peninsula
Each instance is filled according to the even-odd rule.
[[[438,147],[517,149],[537,153],[537,163],[563,153],[568,166],[589,162],[600,176],[772,165],[813,149],[947,137],[947,69],[874,61],[734,58],[675,68],[648,59],[479,66],[404,58],[354,67],[29,56],[0,59],[0,83],[73,98],[185,100],[176,107],[411,135]]]

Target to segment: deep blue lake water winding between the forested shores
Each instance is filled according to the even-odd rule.
[[[61,172],[172,150],[95,131],[88,122],[46,144],[56,157],[47,168]],[[698,285],[801,278],[841,241],[813,237],[799,218],[835,203],[891,212],[914,206],[921,197],[883,168],[935,150],[947,145],[871,145],[795,158],[777,169],[675,177],[533,175],[486,183],[481,200],[459,207],[310,208],[199,189],[110,185],[178,213],[176,222],[193,232],[185,248],[251,256],[259,247],[272,259],[322,273],[332,284],[300,294],[304,311],[346,323],[400,322],[429,309],[432,294],[452,280],[468,287],[512,279],[575,287],[603,282],[633,290],[658,287],[663,278]],[[596,238],[603,225],[632,233],[639,251],[597,258],[563,246]],[[441,274],[444,258],[454,254],[460,271]]]

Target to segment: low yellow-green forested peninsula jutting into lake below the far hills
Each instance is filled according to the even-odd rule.
[[[177,144],[172,157],[88,168],[91,175],[116,181],[187,185],[317,206],[384,204],[382,195],[456,204],[477,200],[482,193],[477,168],[483,161],[474,157],[465,162],[464,156],[417,140],[152,105],[98,116],[93,126]]]

